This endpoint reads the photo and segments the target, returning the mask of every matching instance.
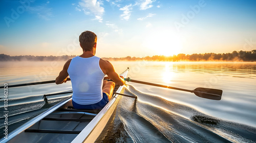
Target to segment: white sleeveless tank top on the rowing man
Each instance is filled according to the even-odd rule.
[[[75,57],[71,60],[68,74],[71,79],[72,100],[81,105],[89,105],[102,99],[102,85],[105,74],[99,66],[99,57]]]

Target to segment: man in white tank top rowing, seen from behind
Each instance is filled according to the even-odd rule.
[[[82,55],[69,59],[55,83],[67,82],[71,79],[73,96],[72,104],[75,109],[102,109],[112,98],[115,84],[123,85],[124,79],[118,76],[113,65],[95,56],[97,35],[84,31],[79,36]],[[112,81],[103,80],[105,75]]]

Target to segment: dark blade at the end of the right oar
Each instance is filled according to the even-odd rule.
[[[211,100],[221,100],[222,90],[198,87],[193,90],[196,96]]]

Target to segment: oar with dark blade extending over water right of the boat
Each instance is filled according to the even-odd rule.
[[[196,96],[198,96],[200,98],[206,98],[206,99],[211,99],[211,100],[221,100],[221,95],[222,95],[222,90],[220,90],[220,89],[198,87],[194,90],[188,90],[188,89],[182,89],[182,88],[177,88],[177,87],[172,87],[172,86],[167,86],[167,85],[132,80],[130,78],[125,78],[124,80],[128,81],[128,82],[130,81],[130,82],[141,83],[141,84],[146,84],[146,85],[153,85],[153,86],[170,88],[170,89],[175,89],[175,90],[193,92],[196,94]]]

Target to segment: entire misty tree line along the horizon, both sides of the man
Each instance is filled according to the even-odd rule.
[[[68,60],[74,58],[75,55],[68,56],[9,56],[5,54],[0,54],[0,61],[58,61],[58,60]],[[205,54],[178,54],[173,56],[146,56],[143,58],[127,56],[124,58],[103,58],[110,61],[137,61],[137,60],[147,60],[147,61],[256,61],[256,50],[252,51],[233,51],[232,53],[205,53]]]

